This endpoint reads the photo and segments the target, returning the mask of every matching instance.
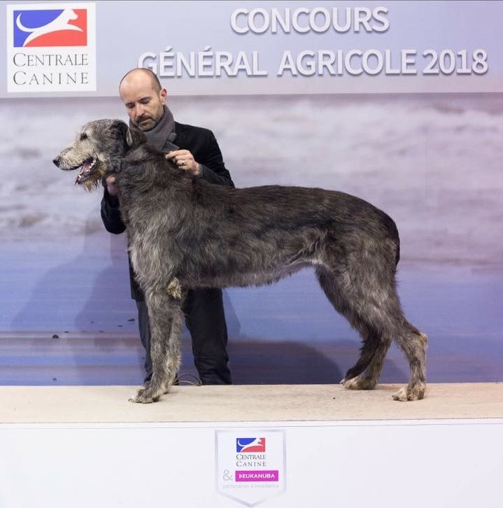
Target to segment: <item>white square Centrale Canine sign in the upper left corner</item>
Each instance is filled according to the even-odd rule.
[[[96,90],[94,3],[7,6],[7,91]]]

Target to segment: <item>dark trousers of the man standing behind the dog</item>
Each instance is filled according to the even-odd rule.
[[[145,302],[136,302],[141,344],[145,348],[145,381],[152,377],[150,358],[150,324]],[[227,362],[227,325],[222,290],[200,289],[187,292],[183,306],[185,324],[192,337],[194,365],[204,385],[232,383]]]

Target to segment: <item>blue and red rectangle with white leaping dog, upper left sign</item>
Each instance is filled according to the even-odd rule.
[[[15,48],[87,45],[87,9],[13,11]]]

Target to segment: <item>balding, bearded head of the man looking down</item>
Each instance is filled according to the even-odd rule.
[[[119,93],[131,121],[149,131],[162,118],[167,92],[149,69],[133,69],[120,81]]]

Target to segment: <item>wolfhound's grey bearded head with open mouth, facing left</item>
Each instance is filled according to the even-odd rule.
[[[75,183],[92,190],[105,176],[120,171],[122,157],[145,141],[143,132],[129,129],[125,122],[95,120],[84,125],[73,144],[52,162],[65,171],[78,169]]]

